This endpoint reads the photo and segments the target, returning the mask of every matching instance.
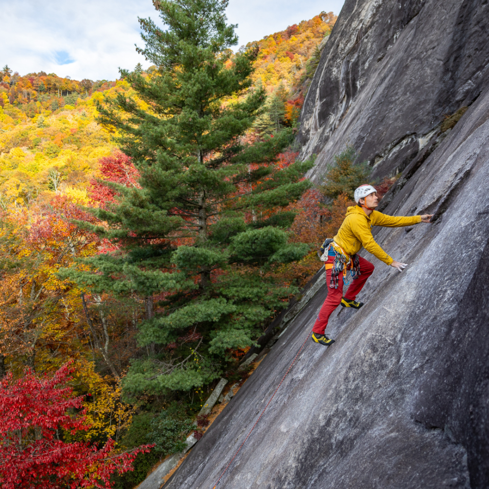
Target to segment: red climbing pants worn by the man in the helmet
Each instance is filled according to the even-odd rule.
[[[356,295],[360,292],[360,290],[365,285],[367,279],[372,275],[374,271],[374,266],[365,258],[360,258],[360,276],[353,280],[350,272],[348,272],[347,278],[351,279],[350,287],[346,291],[345,299],[355,300]],[[333,263],[334,256],[329,256],[328,261],[326,263]],[[350,266],[348,266],[347,270],[350,270]],[[326,284],[328,285],[328,295],[326,296],[326,300],[324,301],[323,307],[317,316],[316,322],[314,323],[314,327],[312,331],[318,334],[324,334],[324,330],[326,329],[326,325],[328,324],[328,319],[331,316],[331,313],[340,305],[341,297],[343,296],[343,273],[338,275],[338,288],[332,289],[330,287],[331,280],[331,269],[326,270]]]

